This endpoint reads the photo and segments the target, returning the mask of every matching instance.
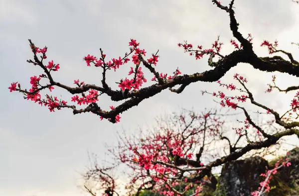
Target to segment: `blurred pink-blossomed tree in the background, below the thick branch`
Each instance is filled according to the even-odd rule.
[[[85,188],[94,195],[107,190],[112,195],[119,193],[121,183],[115,185],[115,171],[123,168],[122,179],[129,181],[122,183],[122,187],[126,187],[128,195],[139,196],[151,190],[158,195],[195,196],[204,186],[215,191],[218,182],[211,170],[198,178],[206,163],[235,153],[245,147],[248,140],[257,141],[261,137],[245,121],[244,126],[235,128],[238,137],[233,141],[225,127],[228,115],[231,114],[215,109],[201,113],[183,109],[158,119],[153,129],[141,129],[131,136],[126,132],[119,134],[118,145],[108,147],[112,158],[110,163],[106,162],[109,167],[103,168],[95,161],[84,174],[86,184],[93,182],[93,186]],[[268,133],[277,132],[268,122],[264,126]],[[279,147],[276,144],[255,154],[268,155]],[[243,157],[252,155],[247,153]]]

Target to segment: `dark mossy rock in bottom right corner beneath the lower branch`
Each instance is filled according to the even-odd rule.
[[[268,196],[299,196],[299,148],[270,163],[261,157],[226,163],[222,168],[215,196],[251,196],[251,192],[257,191],[260,182],[264,180],[260,175],[265,173],[267,168],[273,169],[281,158],[288,158],[292,165],[282,167],[272,176],[272,189]]]

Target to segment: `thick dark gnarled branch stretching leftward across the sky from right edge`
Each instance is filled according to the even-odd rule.
[[[225,56],[225,58],[220,59],[219,62],[217,63],[218,65],[213,70],[205,71],[202,73],[195,73],[192,75],[177,76],[173,79],[164,81],[162,84],[154,84],[147,88],[143,88],[139,91],[129,92],[125,98],[123,96],[122,91],[113,91],[111,89],[98,87],[96,85],[87,84],[81,87],[72,88],[63,85],[61,83],[55,82],[51,77],[50,73],[47,71],[47,69],[43,66],[43,64],[38,59],[35,59],[35,61],[37,62],[37,65],[39,65],[41,68],[44,69],[45,73],[49,78],[51,86],[58,86],[62,89],[67,90],[71,94],[80,94],[89,91],[90,89],[94,89],[110,96],[111,99],[114,101],[120,101],[120,100],[130,98],[129,100],[125,101],[123,104],[119,105],[118,107],[116,107],[114,110],[110,112],[106,112],[106,111],[103,112],[98,107],[92,108],[93,106],[95,106],[95,104],[91,104],[87,108],[80,109],[80,110],[77,110],[75,106],[66,106],[66,107],[73,108],[74,114],[93,111],[94,113],[104,118],[111,118],[112,122],[115,122],[114,118],[117,114],[122,113],[128,110],[129,108],[138,105],[142,100],[146,98],[150,98],[160,93],[162,90],[173,88],[176,85],[181,85],[182,87],[179,88],[178,91],[176,91],[176,93],[181,93],[184,90],[184,88],[191,83],[198,82],[198,81],[202,81],[202,82],[217,81],[221,77],[223,77],[226,74],[226,72],[228,72],[231,68],[237,66],[238,63],[249,63],[255,69],[261,71],[267,71],[267,72],[279,71],[281,73],[288,73],[290,75],[299,77],[299,66],[296,66],[290,63],[289,61],[284,60],[281,57],[280,58],[277,57],[259,58],[255,54],[248,53],[245,50],[238,50]],[[41,90],[41,88],[37,89],[36,91],[39,90]]]

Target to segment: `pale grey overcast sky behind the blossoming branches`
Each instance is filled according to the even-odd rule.
[[[236,0],[235,7],[240,31],[252,33],[259,56],[267,55],[267,49],[259,47],[264,39],[277,39],[281,49],[299,56],[299,48],[291,45],[299,42],[299,5],[291,0]],[[201,96],[200,91],[219,89],[217,84],[196,83],[180,95],[163,91],[121,114],[119,124],[92,114],[72,115],[68,109],[50,113],[7,89],[11,82],[30,88],[30,76],[42,74],[26,63],[32,56],[27,39],[48,47],[47,60],[61,68],[53,74],[54,80],[72,85],[77,79],[100,84],[100,70],[87,67],[82,58],[99,56],[99,48],[108,58],[123,56],[130,38],[137,39],[147,54],[159,49],[159,72],[171,73],[176,67],[183,74],[202,72],[209,69],[206,60],[189,57],[177,43],[188,40],[209,48],[218,35],[225,44],[223,54],[229,54],[233,47],[228,14],[211,0],[0,0],[0,196],[84,196],[78,179],[88,166],[87,152],[103,156],[104,143],[112,144],[117,131],[133,133],[139,126],[152,125],[157,115],[180,107],[197,111],[214,107],[211,97]],[[114,82],[129,70],[127,64],[109,73],[109,84],[117,87]],[[236,72],[248,78],[257,100],[278,111],[288,108],[296,93],[264,94],[273,73],[246,64],[231,69],[221,80],[230,82]],[[282,87],[298,85],[294,77],[276,75]],[[147,76],[150,81],[152,76]],[[71,97],[58,89],[53,95],[68,101]],[[102,96],[99,104],[108,110],[118,103]]]

